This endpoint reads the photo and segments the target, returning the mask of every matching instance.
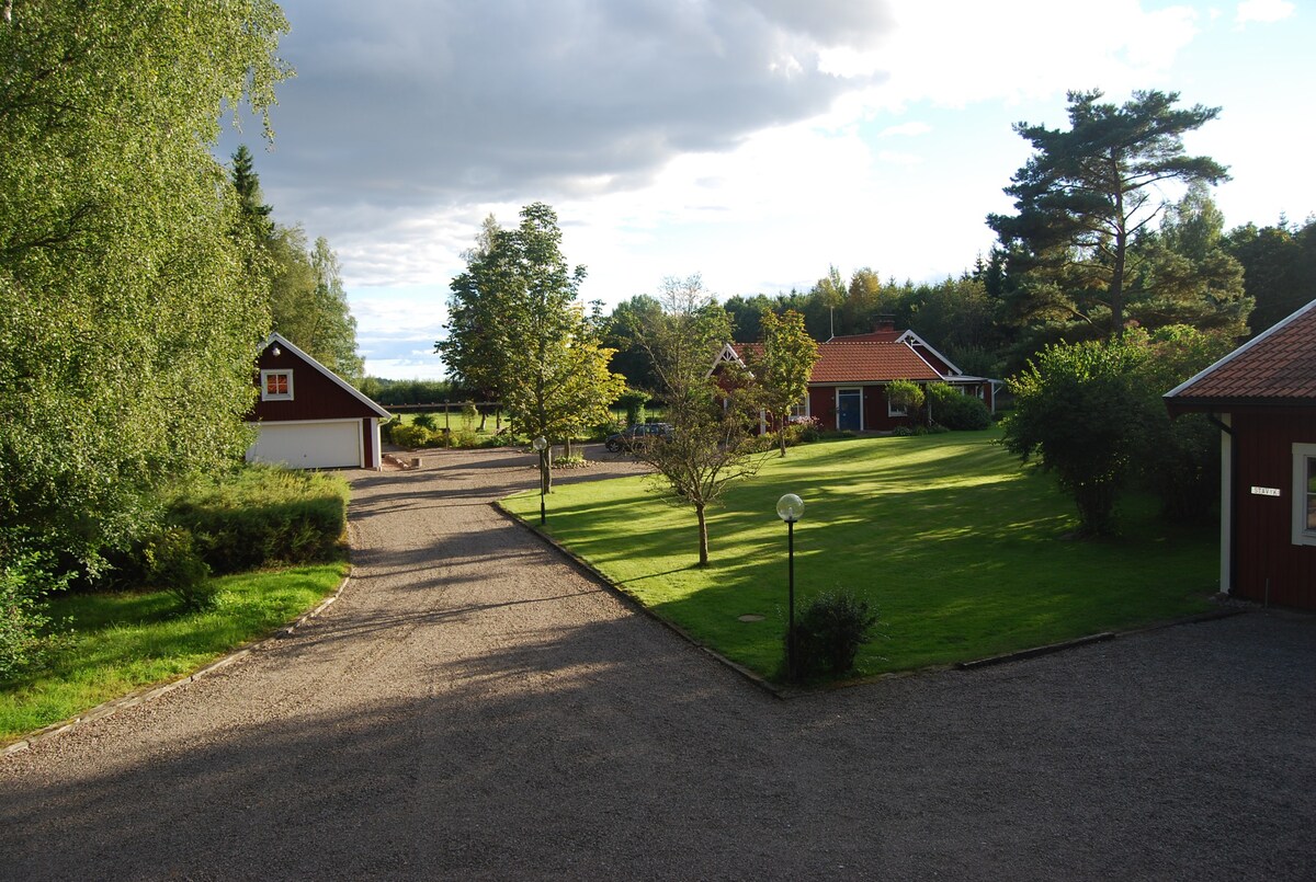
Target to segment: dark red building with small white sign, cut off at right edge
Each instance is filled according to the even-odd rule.
[[[1220,427],[1220,590],[1316,610],[1316,301],[1165,402]]]

